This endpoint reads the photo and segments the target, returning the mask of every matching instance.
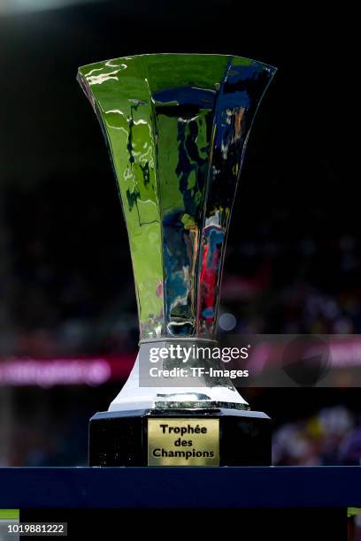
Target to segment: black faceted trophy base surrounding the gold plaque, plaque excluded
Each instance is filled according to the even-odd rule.
[[[215,465],[271,465],[271,419],[257,411],[219,408],[97,413],[89,422],[89,466],[155,465],[150,461],[148,426],[157,417],[169,419],[170,424],[180,419],[219,419],[219,461]]]

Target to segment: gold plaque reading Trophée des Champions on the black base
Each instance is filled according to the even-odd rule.
[[[148,419],[148,466],[219,466],[219,419]]]

